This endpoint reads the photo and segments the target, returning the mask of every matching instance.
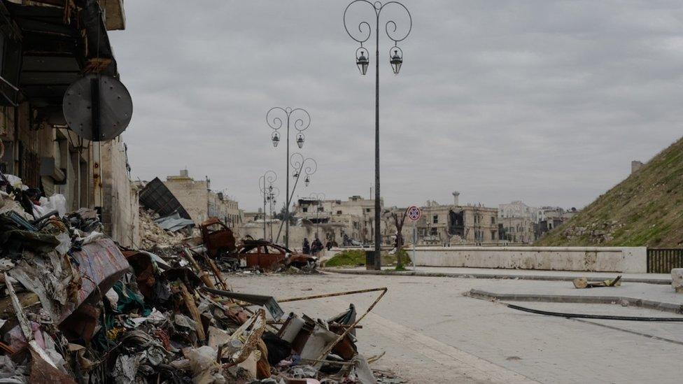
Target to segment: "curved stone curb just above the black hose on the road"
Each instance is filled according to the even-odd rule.
[[[493,293],[482,290],[470,290],[465,292],[466,297],[482,300],[504,301],[537,301],[546,303],[580,303],[580,304],[620,304],[638,306],[641,308],[656,309],[657,311],[683,314],[683,304],[665,303],[663,301],[636,299],[623,296],[578,296],[572,294],[517,294],[517,293]]]

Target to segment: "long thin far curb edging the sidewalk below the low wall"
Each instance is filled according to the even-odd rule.
[[[514,279],[514,280],[546,280],[546,281],[572,281],[578,276],[544,276],[544,275],[514,275],[510,273],[445,273],[445,272],[420,272],[420,271],[351,271],[348,269],[334,269],[323,268],[325,272],[331,273],[345,273],[347,275],[382,275],[382,276],[420,276],[420,277],[449,277],[449,278],[498,278],[498,279]],[[618,272],[614,273],[615,275]],[[589,277],[589,281],[603,281],[605,278]],[[621,278],[624,283],[646,283],[646,284],[661,284],[671,285],[671,279],[661,278]]]

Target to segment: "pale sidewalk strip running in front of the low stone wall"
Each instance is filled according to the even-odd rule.
[[[667,273],[619,273],[619,272],[577,272],[577,271],[537,271],[530,269],[487,269],[463,268],[447,266],[407,266],[408,271],[394,271],[392,267],[384,267],[382,271],[367,271],[365,266],[348,268],[325,268],[333,273],[348,273],[354,275],[397,275],[423,277],[452,277],[452,278],[502,278],[517,280],[549,280],[571,281],[585,277],[589,281],[602,281],[621,275],[624,283],[671,284],[671,275]]]

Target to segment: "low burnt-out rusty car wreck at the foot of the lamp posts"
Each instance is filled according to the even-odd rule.
[[[229,255],[237,262],[239,268],[258,268],[264,271],[276,271],[281,267],[295,266],[299,269],[315,269],[318,257],[294,252],[270,241],[246,240]]]

